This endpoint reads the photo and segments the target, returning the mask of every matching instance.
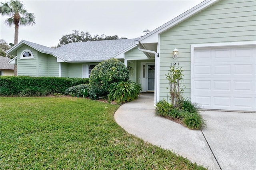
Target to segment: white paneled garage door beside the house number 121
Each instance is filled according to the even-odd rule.
[[[255,46],[194,49],[193,70],[191,97],[202,108],[256,111]]]

